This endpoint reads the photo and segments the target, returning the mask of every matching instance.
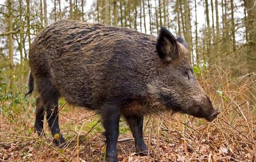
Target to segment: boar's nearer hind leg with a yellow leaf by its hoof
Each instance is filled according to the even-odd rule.
[[[58,92],[51,86],[47,89],[47,94],[44,95],[46,118],[48,121],[49,128],[54,137],[54,144],[59,147],[65,143],[65,140],[60,133],[59,120],[58,120]]]

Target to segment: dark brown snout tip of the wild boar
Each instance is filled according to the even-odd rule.
[[[204,118],[211,122],[217,117],[220,111],[214,109],[210,99],[205,96],[201,101],[194,102],[193,106],[189,109],[189,113],[195,117]]]

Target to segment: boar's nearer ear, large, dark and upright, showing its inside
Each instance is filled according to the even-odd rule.
[[[166,28],[161,27],[156,48],[159,57],[164,62],[169,62],[178,57],[177,41]]]

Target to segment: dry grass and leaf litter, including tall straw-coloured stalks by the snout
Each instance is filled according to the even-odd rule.
[[[122,120],[120,161],[255,161],[255,75],[228,80],[228,71],[215,66],[199,80],[214,105],[221,110],[208,123],[189,115],[159,114],[145,118],[144,138],[154,157],[134,153],[134,140]],[[3,89],[2,89],[3,90]],[[216,91],[218,90],[218,93]],[[19,94],[18,94],[19,95]],[[68,142],[52,145],[49,130],[44,138],[33,133],[34,99],[30,104],[15,97],[0,100],[0,159],[3,161],[100,161],[104,137],[95,112],[61,102],[60,125]],[[5,108],[9,108],[6,112]],[[45,125],[47,128],[47,125]]]

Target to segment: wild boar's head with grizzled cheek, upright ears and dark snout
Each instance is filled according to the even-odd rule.
[[[214,109],[193,73],[185,40],[176,39],[161,28],[156,49],[162,67],[154,82],[148,84],[148,90],[158,98],[158,103],[174,112],[214,120],[220,112]]]

